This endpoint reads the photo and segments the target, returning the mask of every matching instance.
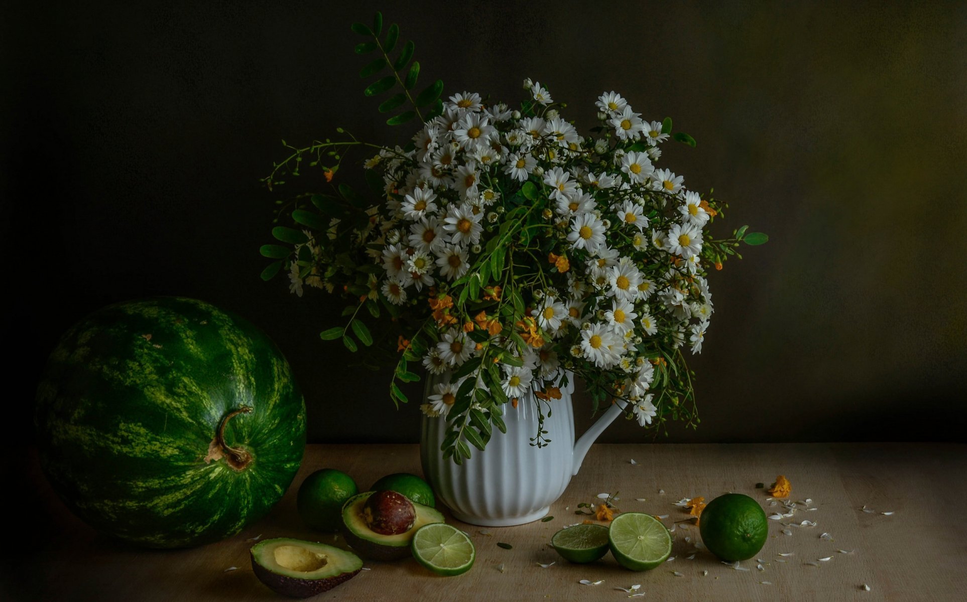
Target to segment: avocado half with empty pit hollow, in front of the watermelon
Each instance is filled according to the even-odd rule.
[[[251,570],[263,584],[283,595],[308,598],[356,576],[363,560],[324,543],[279,537],[251,548]]]

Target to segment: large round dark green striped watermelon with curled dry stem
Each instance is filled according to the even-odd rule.
[[[97,530],[152,548],[231,536],[285,493],[306,406],[249,322],[183,298],[128,301],[73,326],[38,387],[41,462]]]

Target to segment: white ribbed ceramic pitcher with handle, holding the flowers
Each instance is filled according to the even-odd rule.
[[[433,379],[428,380],[427,394],[434,384]],[[544,417],[549,444],[531,445],[530,439],[538,432],[531,391],[519,398],[516,408],[504,405],[507,433],[494,429],[486,449],[471,447],[471,457],[460,466],[444,458],[440,450],[447,434],[446,418],[423,417],[420,457],[424,475],[455,519],[484,527],[510,527],[546,516],[550,504],[564,494],[571,476],[581,468],[591,444],[624,407],[612,405],[575,442],[573,390],[574,376],[569,372],[561,399],[551,400],[551,416]]]

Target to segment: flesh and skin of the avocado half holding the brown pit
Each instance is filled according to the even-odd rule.
[[[363,505],[374,494],[373,491],[354,496],[342,506],[342,534],[346,542],[367,559],[396,560],[411,555],[410,541],[413,533],[430,523],[445,523],[443,514],[422,503],[413,503],[416,510],[416,520],[410,530],[396,533],[396,535],[382,535],[369,529],[363,518]]]

